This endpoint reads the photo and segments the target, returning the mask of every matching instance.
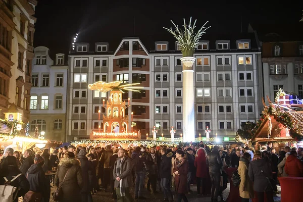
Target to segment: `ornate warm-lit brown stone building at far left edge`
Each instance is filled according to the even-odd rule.
[[[36,0],[0,0],[0,117],[12,104],[29,121]]]

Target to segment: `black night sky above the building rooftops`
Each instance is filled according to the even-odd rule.
[[[286,36],[303,33],[303,22],[298,22],[302,10],[302,1],[39,0],[34,46],[47,46],[54,57],[68,54],[75,33],[79,42],[109,42],[115,48],[123,37],[171,40],[163,27],[171,27],[170,20],[180,25],[190,16],[197,19],[197,28],[209,21],[207,34],[240,33],[242,22],[242,32],[250,23],[258,34]]]

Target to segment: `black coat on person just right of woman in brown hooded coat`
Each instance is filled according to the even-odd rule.
[[[83,179],[81,192],[89,192],[92,188],[92,183],[89,180],[89,172],[92,173],[95,168],[93,167],[92,162],[88,161],[87,157],[85,156],[78,155],[78,160],[80,161]]]

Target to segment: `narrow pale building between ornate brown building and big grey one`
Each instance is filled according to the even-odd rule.
[[[49,57],[44,46],[34,48],[31,72],[30,134],[44,131],[50,140],[65,139],[68,66],[64,54]]]

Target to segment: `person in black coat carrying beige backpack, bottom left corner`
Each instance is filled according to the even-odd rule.
[[[8,181],[11,181],[21,173],[17,166],[17,159],[14,156],[7,156],[3,159],[0,170],[0,185],[5,184],[6,181],[4,177],[6,177]],[[10,185],[17,187],[18,190],[18,192],[14,193],[14,202],[18,202],[18,197],[24,196],[29,190],[29,182],[22,173],[17,179],[11,182]]]

